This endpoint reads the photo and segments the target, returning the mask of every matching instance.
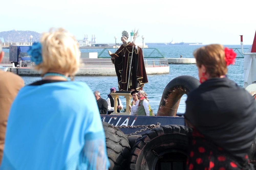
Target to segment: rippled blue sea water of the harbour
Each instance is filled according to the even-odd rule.
[[[148,48],[157,48],[161,53],[165,54],[166,58],[193,58],[193,51],[200,46],[198,45],[148,45]],[[226,45],[229,48],[241,48],[240,45]],[[249,45],[244,46],[248,48]],[[103,49],[80,49],[82,53],[98,52]],[[198,71],[196,64],[169,64],[169,74],[148,75],[148,83],[145,84],[143,90],[148,94],[150,106],[156,114],[159,103],[166,85],[175,77],[180,75],[190,75],[198,79]],[[41,77],[22,77],[25,84],[28,85],[32,82],[40,80]],[[237,58],[235,65],[228,66],[228,78],[236,82],[239,86],[243,86],[244,73],[243,73],[243,58]],[[76,76],[75,81],[85,82],[92,91],[100,91],[101,97],[106,99],[110,93],[111,87],[116,87],[118,90],[116,76]],[[187,96],[183,95],[178,107],[178,113],[184,113],[186,109]],[[123,106],[125,107],[125,98],[120,97]]]

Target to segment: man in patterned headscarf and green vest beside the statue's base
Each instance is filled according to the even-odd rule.
[[[139,105],[138,105],[138,116],[149,116],[149,103],[147,94],[143,90],[138,91],[138,99],[139,99]]]

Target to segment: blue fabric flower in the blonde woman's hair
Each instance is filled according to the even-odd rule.
[[[35,42],[32,46],[29,47],[28,50],[28,55],[31,56],[31,61],[35,62],[36,65],[40,64],[43,61],[41,48],[41,43]]]

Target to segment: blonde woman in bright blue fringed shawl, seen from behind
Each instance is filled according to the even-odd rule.
[[[75,38],[50,30],[29,53],[43,78],[13,102],[1,169],[108,169],[94,95],[85,83],[68,81],[80,64]]]

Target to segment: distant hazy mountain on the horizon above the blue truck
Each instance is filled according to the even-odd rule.
[[[4,38],[4,42],[7,43],[9,39],[10,42],[30,42],[29,36],[32,35],[32,42],[38,42],[40,40],[41,34],[35,31],[3,31],[0,32],[0,37]]]

